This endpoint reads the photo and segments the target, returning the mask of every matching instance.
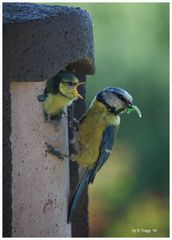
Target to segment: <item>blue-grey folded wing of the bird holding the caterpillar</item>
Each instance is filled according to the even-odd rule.
[[[117,133],[118,133],[118,126],[109,126],[105,129],[102,137],[102,142],[100,145],[99,158],[96,162],[96,165],[91,170],[92,174],[90,175],[89,183],[93,183],[96,173],[100,170],[100,168],[109,158]]]

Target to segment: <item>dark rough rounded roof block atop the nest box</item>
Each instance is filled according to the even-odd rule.
[[[85,10],[4,3],[3,22],[7,79],[41,81],[71,63],[78,72],[94,73],[92,21]]]

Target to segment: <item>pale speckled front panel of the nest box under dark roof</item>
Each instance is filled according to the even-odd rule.
[[[44,83],[11,84],[12,237],[70,237],[69,161],[46,153],[45,142],[68,153],[67,119],[55,128],[37,95]],[[57,138],[57,141],[55,141]]]

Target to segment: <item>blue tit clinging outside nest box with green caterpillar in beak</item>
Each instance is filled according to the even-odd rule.
[[[80,195],[107,161],[120,125],[120,114],[136,110],[131,95],[121,88],[108,87],[98,93],[88,111],[79,122],[76,132],[75,150],[71,160],[80,166],[80,177],[69,204],[68,222],[71,221]]]

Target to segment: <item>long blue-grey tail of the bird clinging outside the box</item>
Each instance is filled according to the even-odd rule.
[[[74,195],[72,197],[72,200],[71,200],[71,202],[69,204],[68,223],[71,222],[74,209],[76,208],[76,206],[78,204],[78,201],[80,199],[81,193],[83,192],[85,186],[89,182],[90,170],[88,170],[88,169],[82,170],[80,176],[81,177],[80,177],[79,182],[78,182],[78,184],[76,186],[75,193],[74,193]]]

